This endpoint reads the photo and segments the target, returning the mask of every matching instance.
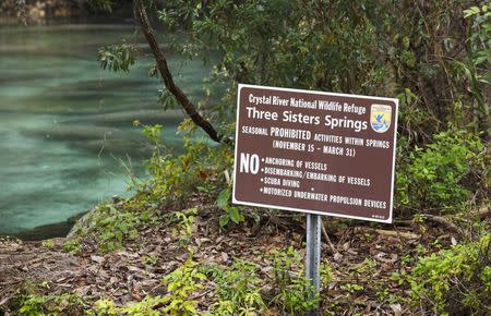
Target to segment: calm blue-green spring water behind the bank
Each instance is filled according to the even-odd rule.
[[[165,142],[179,147],[181,113],[157,105],[149,60],[130,74],[99,69],[97,49],[134,40],[132,33],[132,25],[0,25],[0,234],[60,222],[130,194],[118,159],[143,175],[145,156],[133,120],[161,123]],[[169,62],[197,98],[206,69],[179,56]]]

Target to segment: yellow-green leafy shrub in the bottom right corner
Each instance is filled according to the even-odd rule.
[[[491,234],[421,257],[406,276],[416,306],[446,315],[490,315]]]

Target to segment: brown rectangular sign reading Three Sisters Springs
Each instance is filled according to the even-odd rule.
[[[392,222],[397,107],[239,85],[233,203]]]

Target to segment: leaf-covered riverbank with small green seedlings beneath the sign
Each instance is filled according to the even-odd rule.
[[[107,207],[124,215],[129,204],[120,200]],[[91,229],[104,229],[104,226],[91,228],[97,224],[96,217],[85,219],[79,226],[74,235],[83,232],[83,240],[0,241],[0,314],[3,311],[10,315],[19,308],[20,302],[29,297],[38,297],[36,302],[51,302],[32,308],[45,312],[56,308],[60,315],[103,311],[97,309],[101,308],[103,302],[115,304],[115,311],[118,306],[136,306],[134,304],[149,302],[149,297],[171,295],[172,291],[163,279],[190,260],[203,265],[203,271],[221,271],[219,274],[224,276],[233,274],[233,280],[239,282],[236,287],[243,282],[241,278],[247,278],[253,287],[247,291],[256,289],[254,291],[261,293],[264,302],[279,300],[276,295],[280,285],[275,281],[275,274],[280,271],[278,268],[288,269],[291,276],[303,274],[303,217],[279,212],[263,217],[260,222],[249,218],[240,226],[224,230],[218,224],[221,210],[203,194],[190,196],[184,208],[178,208],[179,211],[175,207],[161,209],[158,218],[139,228],[134,240],[125,240],[119,248],[110,252],[101,251],[94,235],[87,234]],[[242,211],[250,214],[253,210]],[[187,215],[187,233],[180,231],[183,227],[176,221],[176,214]],[[324,232],[323,236],[321,268],[321,297],[325,313],[416,313],[418,307],[410,303],[408,284],[394,276],[410,270],[418,264],[419,256],[436,253],[459,241],[455,231],[432,221],[408,221],[378,226],[376,229],[339,219],[326,220],[325,224],[328,233]],[[235,270],[240,267],[238,263],[242,263],[243,268]],[[285,264],[287,266],[284,267]],[[244,267],[250,270],[241,270]],[[201,285],[193,288],[189,296],[199,315],[216,308],[215,304],[223,295],[216,290],[216,282],[223,281],[213,274],[205,272],[204,276],[206,278],[200,281]],[[225,283],[225,287],[232,284]],[[163,303],[152,304],[148,307],[152,311],[164,306]],[[262,309],[265,313],[262,315],[289,315],[278,305],[268,304],[267,309]],[[149,309],[145,311],[149,313]]]

